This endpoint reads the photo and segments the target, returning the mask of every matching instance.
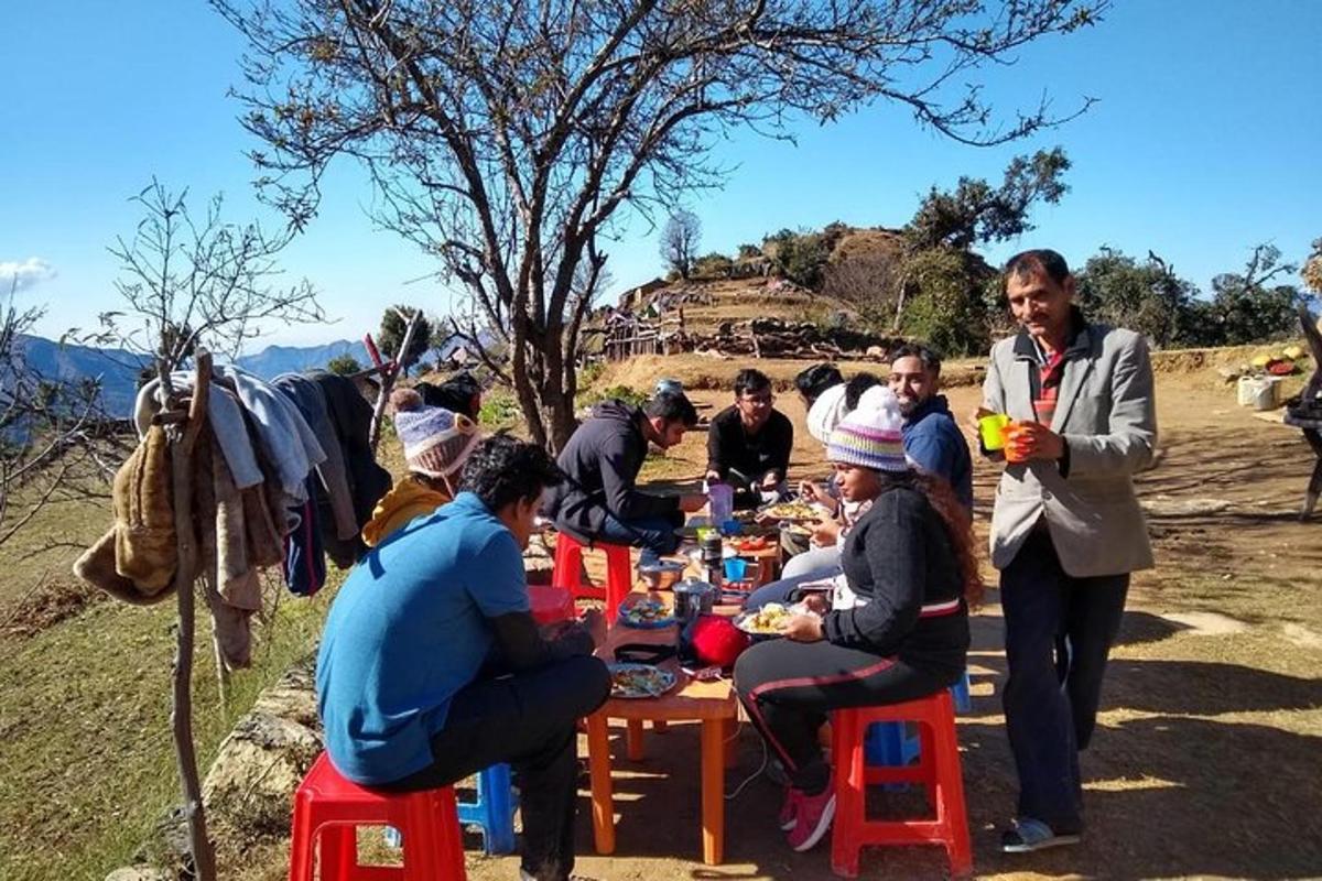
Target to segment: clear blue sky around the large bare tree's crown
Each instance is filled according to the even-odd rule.
[[[196,210],[217,192],[226,217],[279,222],[256,203],[243,151],[253,141],[226,96],[241,38],[201,0],[67,0],[4,12],[0,53],[0,279],[48,308],[58,335],[118,308],[106,246],[140,219],[130,197],[152,176],[189,188]],[[997,260],[1050,246],[1081,264],[1103,244],[1153,250],[1200,288],[1272,242],[1300,262],[1322,236],[1322,3],[1118,0],[1083,33],[1026,48],[982,78],[1006,111],[1043,90],[1083,118],[1029,141],[969,148],[917,128],[894,106],[828,127],[798,125],[797,145],[740,133],[717,147],[732,166],[722,190],[691,201],[702,250],[732,252],[781,227],[830,221],[899,226],[933,184],[998,180],[1009,159],[1063,145],[1071,193],[1034,214],[1038,230],[986,251]],[[430,264],[368,218],[353,166],[336,168],[321,214],[282,255],[338,321],[270,328],[263,342],[313,343],[374,330],[397,301],[444,312]],[[616,288],[660,272],[657,231],[635,222],[612,246]],[[419,280],[423,279],[423,280]]]

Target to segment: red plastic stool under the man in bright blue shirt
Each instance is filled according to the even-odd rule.
[[[360,866],[358,826],[393,826],[403,835],[405,864]],[[368,790],[340,775],[325,753],[293,795],[290,881],[312,881],[320,849],[321,881],[463,881],[464,840],[449,786],[422,793]],[[317,848],[317,839],[321,847]]]

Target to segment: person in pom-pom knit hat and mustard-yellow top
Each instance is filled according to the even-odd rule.
[[[449,503],[455,498],[452,481],[481,440],[473,420],[444,407],[428,407],[412,388],[395,390],[390,407],[408,477],[377,502],[371,519],[362,527],[368,547],[381,544],[408,520]]]

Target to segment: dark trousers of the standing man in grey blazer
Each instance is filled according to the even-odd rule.
[[[1056,832],[1083,828],[1079,750],[1088,746],[1101,679],[1120,631],[1129,575],[1076,579],[1035,531],[1001,572],[1005,654],[1002,704],[1019,771],[1019,816]]]

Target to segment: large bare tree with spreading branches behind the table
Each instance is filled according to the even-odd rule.
[[[295,227],[338,156],[378,219],[440,262],[508,343],[533,437],[574,428],[578,267],[632,209],[720,184],[713,144],[791,137],[878,99],[968,144],[1022,137],[1044,99],[995,122],[976,69],[1097,20],[1107,0],[212,0],[247,38],[245,125],[264,197]]]

